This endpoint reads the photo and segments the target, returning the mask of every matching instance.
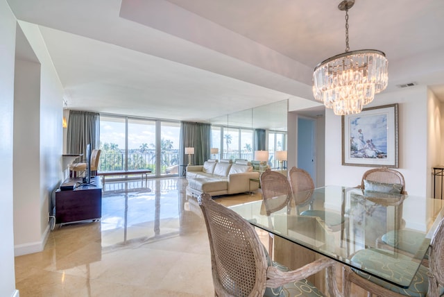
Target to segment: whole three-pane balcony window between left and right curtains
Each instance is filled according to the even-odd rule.
[[[179,122],[101,115],[100,127],[101,171],[178,173]]]

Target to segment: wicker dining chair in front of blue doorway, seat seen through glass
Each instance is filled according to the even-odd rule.
[[[325,210],[316,210],[312,204],[313,201],[307,202],[309,198],[311,198],[312,192],[310,190],[314,189],[313,179],[311,179],[311,176],[307,171],[291,167],[289,171],[289,180],[296,207],[299,208],[308,203],[309,209],[300,212],[301,216],[318,217],[324,221],[325,226],[330,228],[330,230],[343,230],[344,219],[341,214],[337,214],[336,212],[326,212]],[[343,212],[342,209],[341,212]],[[343,235],[341,235],[341,238],[342,237]]]

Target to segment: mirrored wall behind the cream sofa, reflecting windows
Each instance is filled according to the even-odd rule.
[[[210,119],[212,159],[255,160],[255,151],[268,151],[268,165],[282,166],[276,151],[287,151],[288,100]]]

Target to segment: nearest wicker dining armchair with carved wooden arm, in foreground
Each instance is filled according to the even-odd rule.
[[[341,296],[334,260],[323,257],[288,271],[272,262],[253,226],[239,214],[212,200],[198,197],[210,241],[215,296],[323,296],[306,278],[327,271],[330,296]]]

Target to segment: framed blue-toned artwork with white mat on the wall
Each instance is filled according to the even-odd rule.
[[[342,164],[398,168],[398,103],[342,116]]]

